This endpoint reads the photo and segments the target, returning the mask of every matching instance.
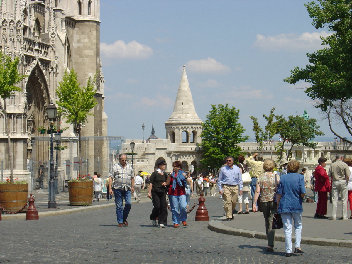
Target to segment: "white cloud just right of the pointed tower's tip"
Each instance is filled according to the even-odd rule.
[[[231,71],[230,67],[227,65],[217,62],[216,59],[194,59],[193,61],[188,61],[186,67],[189,71],[196,73],[214,73],[214,74],[225,74]],[[183,67],[181,67],[183,68]]]

